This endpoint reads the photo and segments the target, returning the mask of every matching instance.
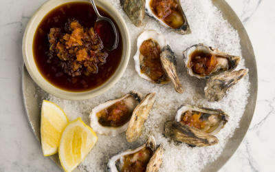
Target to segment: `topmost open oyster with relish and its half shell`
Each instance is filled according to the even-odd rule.
[[[149,17],[177,34],[191,33],[179,0],[146,0],[145,12]]]

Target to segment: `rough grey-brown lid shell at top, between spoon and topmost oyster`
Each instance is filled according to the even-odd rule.
[[[145,14],[145,0],[120,0],[120,6],[136,27],[142,25]]]

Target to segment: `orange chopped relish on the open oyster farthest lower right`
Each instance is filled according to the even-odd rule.
[[[206,121],[201,120],[201,112],[190,112],[186,111],[183,116],[181,116],[181,123],[184,125],[189,125],[190,127],[195,127],[197,129],[203,129],[206,127]]]

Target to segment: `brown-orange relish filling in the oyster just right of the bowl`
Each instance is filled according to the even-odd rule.
[[[151,80],[157,82],[159,78],[165,75],[159,59],[161,50],[158,43],[152,39],[144,41],[142,45],[140,45],[140,53],[144,56],[141,63],[142,74],[146,74]]]

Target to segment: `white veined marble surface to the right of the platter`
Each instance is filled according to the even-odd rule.
[[[259,91],[254,119],[239,149],[219,172],[275,171],[275,1],[228,1],[245,25],[250,36],[258,67]]]

